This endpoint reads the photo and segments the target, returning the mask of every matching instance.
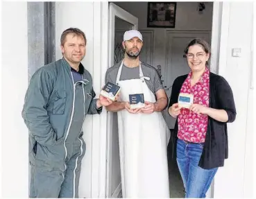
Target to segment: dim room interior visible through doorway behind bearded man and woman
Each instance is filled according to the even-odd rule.
[[[116,19],[114,22],[114,63],[119,62],[122,58],[122,53],[119,46],[119,40],[122,41],[122,36],[128,29],[138,29],[144,38],[144,46],[142,53],[139,55],[140,60],[155,67],[160,72],[161,80],[167,92],[167,96],[171,96],[171,87],[173,81],[178,76],[189,72],[187,59],[184,56],[184,49],[195,37],[200,37],[211,44],[212,40],[212,15],[213,2],[178,2],[176,3],[175,12],[175,27],[148,27],[148,2],[113,2],[123,10],[133,15],[138,19],[138,26],[135,28],[133,24],[127,24],[127,21]],[[133,28],[132,28],[133,27]],[[111,41],[110,41],[111,42]],[[113,63],[112,63],[113,64]],[[167,110],[162,112],[164,119],[169,126],[171,133],[175,125],[175,119],[171,118]],[[112,131],[112,150],[117,150],[118,147],[118,131],[117,131],[117,116],[112,116],[113,131]],[[114,126],[114,123],[116,126]],[[114,130],[116,129],[116,130]],[[168,164],[169,164],[169,182],[171,198],[184,198],[185,190],[182,183],[182,178],[178,170],[176,160],[171,158],[171,146],[168,146]],[[114,168],[114,165],[120,166],[119,155],[116,151],[112,151],[112,173],[109,178],[112,178],[110,194],[114,198],[121,198],[121,175],[120,169]],[[113,162],[114,161],[114,162]],[[120,182],[120,183],[119,183]],[[108,184],[108,182],[107,182]],[[109,184],[110,185],[110,184]]]

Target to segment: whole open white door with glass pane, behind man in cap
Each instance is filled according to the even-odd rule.
[[[119,8],[114,3],[109,5],[109,66],[119,62],[123,56],[121,42],[123,33],[130,29],[137,29],[138,19],[129,12]],[[117,198],[121,191],[121,171],[119,160],[119,140],[117,113],[108,112],[108,144],[107,144],[107,198]]]

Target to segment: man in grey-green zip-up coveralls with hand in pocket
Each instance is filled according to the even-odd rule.
[[[30,138],[30,198],[78,198],[85,115],[112,103],[94,99],[92,76],[81,64],[85,33],[69,28],[60,42],[63,58],[35,71],[22,111]]]

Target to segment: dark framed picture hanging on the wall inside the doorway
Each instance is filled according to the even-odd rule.
[[[175,28],[176,2],[148,2],[148,27]]]

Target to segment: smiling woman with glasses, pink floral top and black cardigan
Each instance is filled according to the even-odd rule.
[[[228,158],[227,124],[236,116],[227,81],[207,68],[210,46],[192,40],[185,49],[191,69],[173,83],[169,114],[177,118],[171,139],[186,198],[205,198],[219,166]],[[178,105],[180,93],[194,96],[189,108]]]

